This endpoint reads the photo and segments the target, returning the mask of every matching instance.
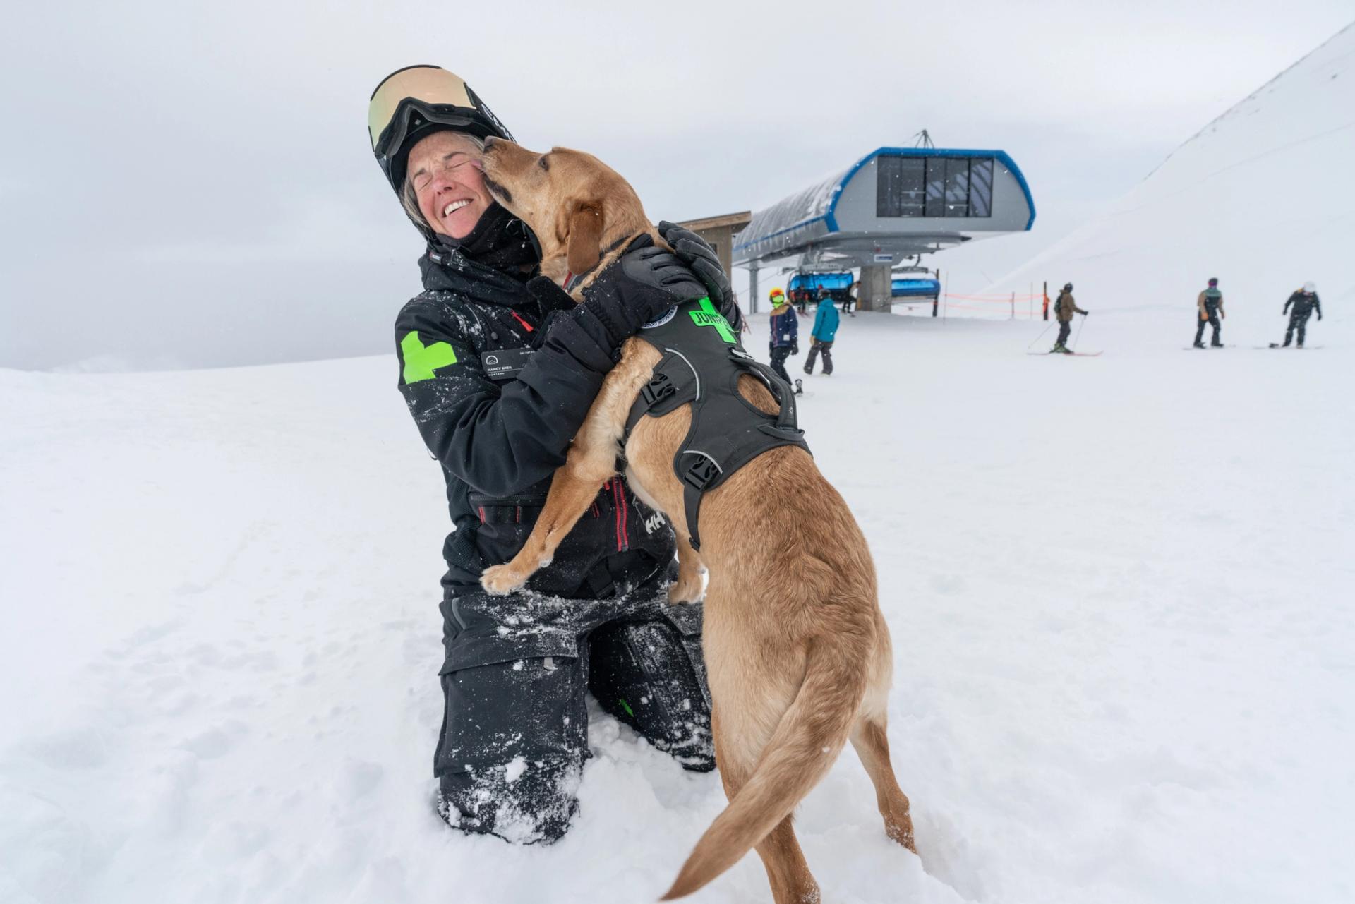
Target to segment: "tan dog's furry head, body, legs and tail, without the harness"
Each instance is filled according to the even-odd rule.
[[[542,272],[560,283],[568,272],[598,274],[640,233],[664,245],[634,190],[589,155],[564,148],[538,155],[491,138],[484,169],[491,194],[537,233]],[[575,289],[576,300],[588,282]],[[556,472],[527,543],[511,562],[485,571],[481,583],[489,592],[511,592],[549,564],[615,473],[626,416],[659,359],[649,343],[626,342]],[[776,411],[753,377],[740,377],[738,390],[763,411]],[[694,602],[701,567],[710,573],[705,651],[711,728],[730,802],[664,900],[695,892],[756,846],[776,904],[818,901],[791,812],[848,739],[875,785],[885,832],[915,850],[908,798],[889,764],[885,716],[893,660],[875,568],[847,504],[794,446],[763,453],[706,493],[698,557],[687,542],[683,489],[672,465],[690,420],[690,405],[641,417],[623,450],[631,489],[664,512],[678,534],[680,572],[669,599]]]

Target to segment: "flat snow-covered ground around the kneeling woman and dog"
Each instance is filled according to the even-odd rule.
[[[799,812],[825,900],[1351,900],[1355,328],[1186,352],[1107,312],[1104,356],[1024,355],[1042,328],[863,313],[808,381],[921,851],[848,752]],[[667,888],[718,778],[602,714],[558,846],[432,815],[446,511],[394,382],[0,370],[0,901]],[[770,897],[749,857],[691,900]]]

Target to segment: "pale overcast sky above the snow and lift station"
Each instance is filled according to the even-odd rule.
[[[0,366],[390,351],[421,240],[366,104],[400,66],[457,72],[527,146],[596,153],[654,220],[756,210],[923,127],[1005,149],[1035,230],[932,258],[978,287],[1352,18],[1351,0],[8,4]]]

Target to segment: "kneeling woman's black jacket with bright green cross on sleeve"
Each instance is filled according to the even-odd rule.
[[[524,276],[444,249],[420,270],[424,291],[396,319],[400,392],[447,482],[443,584],[457,595],[522,549],[619,352],[581,306],[543,310]],[[615,478],[527,587],[604,595],[617,561],[640,579],[672,557],[667,520]]]

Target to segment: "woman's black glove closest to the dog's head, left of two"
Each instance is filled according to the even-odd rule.
[[[637,236],[621,260],[604,268],[584,289],[583,306],[592,312],[619,346],[679,301],[701,298],[706,287],[675,255]]]

